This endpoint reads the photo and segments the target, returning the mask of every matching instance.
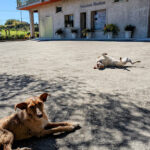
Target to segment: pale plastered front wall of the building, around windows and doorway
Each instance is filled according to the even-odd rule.
[[[81,8],[91,2],[106,2],[106,4]],[[56,6],[62,6],[63,11],[56,12]],[[55,31],[58,28],[65,30],[65,37],[71,38],[70,29],[64,27],[64,15],[74,14],[74,27],[80,28],[80,13],[87,13],[87,28],[91,28],[91,11],[106,9],[106,23],[117,24],[120,28],[118,37],[124,38],[124,27],[127,24],[136,26],[135,37],[145,38],[148,31],[149,0],[122,0],[114,3],[113,0],[63,0],[62,2],[45,5],[38,8],[39,19],[44,17],[53,18],[53,38],[56,38]],[[79,35],[78,35],[79,37]],[[103,31],[97,31],[95,38],[106,38]]]

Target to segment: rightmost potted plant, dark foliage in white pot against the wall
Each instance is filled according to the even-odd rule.
[[[127,25],[127,26],[125,26],[124,30],[125,30],[125,38],[130,39],[133,37],[134,31],[135,31],[135,26]]]

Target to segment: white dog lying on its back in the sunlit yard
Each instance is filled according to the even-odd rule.
[[[103,53],[102,56],[97,58],[97,64],[94,66],[94,69],[104,69],[106,67],[124,67],[127,63],[131,63],[132,65],[136,63],[140,63],[141,61],[133,62],[131,59],[125,57],[120,59],[115,59],[113,57],[108,56],[107,53]]]

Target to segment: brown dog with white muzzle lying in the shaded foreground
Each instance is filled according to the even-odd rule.
[[[70,132],[80,127],[78,123],[49,122],[44,111],[48,95],[43,93],[15,105],[15,110],[21,111],[0,120],[0,149],[11,150],[14,140]]]

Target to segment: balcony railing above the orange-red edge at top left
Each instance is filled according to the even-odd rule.
[[[41,3],[44,0],[17,0],[17,7],[26,7],[32,4],[37,4],[37,3]]]

